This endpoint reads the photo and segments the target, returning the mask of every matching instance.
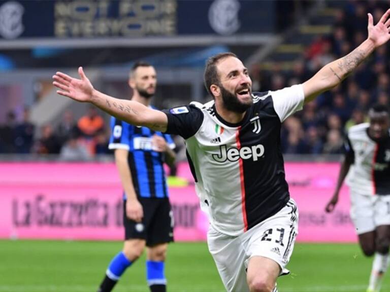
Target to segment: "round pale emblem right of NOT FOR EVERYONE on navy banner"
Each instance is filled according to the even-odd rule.
[[[216,0],[209,10],[209,22],[215,32],[229,35],[240,28],[238,11],[240,3],[237,0]]]

